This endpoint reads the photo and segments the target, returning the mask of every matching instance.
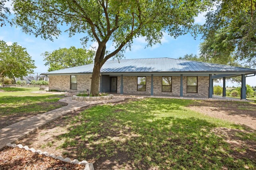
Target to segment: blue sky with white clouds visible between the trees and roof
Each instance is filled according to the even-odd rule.
[[[10,6],[10,3],[7,5]],[[205,21],[204,14],[205,13],[196,17],[195,22],[203,24]],[[63,30],[65,30],[65,28],[63,28]],[[69,38],[68,33],[62,32],[62,35],[60,35],[58,39],[54,39],[52,42],[50,40],[43,40],[41,37],[25,34],[21,31],[20,27],[10,27],[10,25],[0,27],[0,40],[6,41],[8,45],[17,42],[19,45],[27,49],[28,53],[35,61],[35,65],[37,66],[37,68],[34,69],[35,73],[47,72],[48,66],[44,66],[45,62],[41,56],[42,53],[64,47],[69,48],[70,46],[82,48],[80,43],[81,37],[83,37],[82,34]],[[186,54],[198,54],[200,42],[202,42],[200,35],[196,38],[196,40],[189,34],[174,39],[168,34],[164,33],[162,45],[156,44],[153,47],[145,48],[147,43],[145,42],[144,37],[139,37],[134,39],[131,51],[126,51],[124,56],[126,59],[155,57],[178,58],[183,57]],[[95,47],[96,45],[96,42],[89,41],[86,48],[89,49]],[[111,45],[109,46],[111,49]],[[246,83],[250,84],[251,86],[256,86],[256,76],[246,78]],[[231,82],[227,82],[226,85],[238,86],[238,84],[232,84]]]

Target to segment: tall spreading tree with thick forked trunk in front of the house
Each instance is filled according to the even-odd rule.
[[[100,68],[111,57],[122,57],[135,37],[146,37],[148,46],[160,43],[163,31],[175,38],[196,34],[194,17],[212,0],[14,0],[15,23],[25,33],[53,39],[66,24],[69,35],[98,43],[94,58],[91,94],[98,94]],[[107,43],[115,49],[106,49]]]

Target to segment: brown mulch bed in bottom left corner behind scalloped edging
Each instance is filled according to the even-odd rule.
[[[6,148],[0,152],[0,170],[83,170],[84,166],[71,164],[35,154],[19,148]]]

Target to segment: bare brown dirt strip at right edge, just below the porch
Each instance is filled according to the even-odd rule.
[[[233,101],[194,101],[189,109],[256,129],[256,103]]]

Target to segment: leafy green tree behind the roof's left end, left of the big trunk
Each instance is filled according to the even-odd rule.
[[[76,47],[62,48],[52,52],[44,52],[45,66],[49,66],[48,71],[59,70],[62,68],[81,66],[91,64],[95,52],[93,50],[86,50]]]

